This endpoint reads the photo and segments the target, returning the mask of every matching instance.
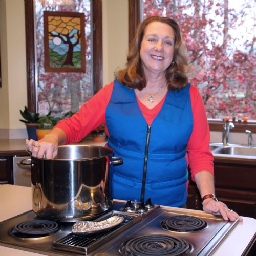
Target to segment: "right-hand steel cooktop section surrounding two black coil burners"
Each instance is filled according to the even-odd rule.
[[[207,224],[203,230],[195,232],[177,232],[162,229],[160,226],[161,221],[173,216],[197,217],[201,220],[204,220]],[[189,210],[186,209],[170,209],[168,207],[160,207],[158,210],[152,212],[151,216],[141,220],[139,222],[139,225],[135,225],[129,230],[124,231],[121,237],[116,238],[115,241],[110,241],[109,243],[105,244],[104,247],[100,248],[100,250],[97,250],[94,253],[95,255],[118,255],[115,254],[116,251],[119,250],[119,247],[123,243],[123,241],[127,239],[148,235],[160,235],[159,241],[162,240],[161,236],[172,236],[174,238],[182,239],[188,242],[189,248],[186,253],[183,253],[182,255],[210,255],[218,248],[220,243],[225,239],[229,231],[236,224],[237,221],[227,222],[218,216],[208,215],[203,212],[195,214],[194,212],[189,212]],[[100,251],[104,251],[104,253],[101,254]],[[157,254],[153,253],[152,255]],[[160,252],[160,254],[158,255],[165,254],[163,252]],[[166,255],[171,254],[167,253]]]

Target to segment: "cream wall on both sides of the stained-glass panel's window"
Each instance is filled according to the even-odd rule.
[[[103,84],[123,67],[128,49],[128,1],[102,0]],[[99,38],[101,39],[101,38]],[[0,0],[0,139],[26,138],[19,110],[27,105],[24,0]]]

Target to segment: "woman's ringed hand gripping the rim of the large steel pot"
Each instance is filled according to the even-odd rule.
[[[26,139],[26,148],[34,157],[52,159],[58,154],[58,145],[64,144],[65,141],[65,133],[61,129],[55,128],[41,140]]]

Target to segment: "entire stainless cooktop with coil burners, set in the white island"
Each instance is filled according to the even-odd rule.
[[[0,244],[46,255],[210,255],[238,223],[183,208],[154,206],[147,210],[143,205],[138,211],[129,208],[130,204],[125,208],[125,203],[114,202],[113,210],[97,219],[122,216],[124,221],[118,226],[82,235],[72,233],[74,223],[59,222],[59,229],[45,237],[16,237],[15,225],[40,220],[33,211],[25,212],[0,223]],[[186,232],[184,226],[191,230]]]

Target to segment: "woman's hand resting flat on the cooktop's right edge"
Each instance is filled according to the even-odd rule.
[[[243,221],[243,219],[237,214],[236,211],[229,209],[226,204],[220,201],[217,202],[211,198],[204,200],[203,210],[208,214],[219,212],[225,221],[235,221],[236,219]]]

